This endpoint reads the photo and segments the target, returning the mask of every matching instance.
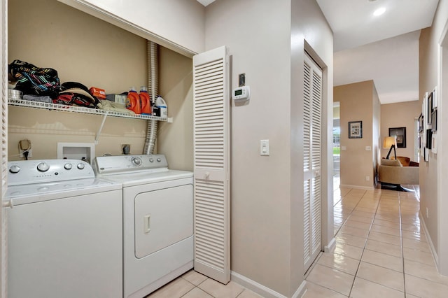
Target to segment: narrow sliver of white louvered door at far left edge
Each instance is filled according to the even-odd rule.
[[[0,0],[0,39],[1,39],[1,198],[3,199],[6,193],[6,185],[8,178],[8,1]],[[6,298],[6,208],[2,208],[0,205],[0,295],[2,298]]]

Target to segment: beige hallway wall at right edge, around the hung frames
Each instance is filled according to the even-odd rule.
[[[430,92],[435,86],[442,83],[441,78],[438,75],[438,44],[441,41],[442,33],[447,30],[447,22],[448,1],[440,0],[434,17],[433,26],[421,31],[419,41],[420,104],[425,92]],[[445,41],[445,52],[447,46],[447,42]],[[447,64],[445,64],[445,67],[448,67],[446,65]],[[444,73],[447,73],[447,69],[444,69]],[[438,87],[443,87],[443,90],[447,90],[446,85],[446,80],[443,79],[443,86],[439,85]],[[439,89],[439,92],[440,90],[441,89]],[[447,94],[440,95],[441,97],[439,98],[440,101],[437,109],[439,110],[439,115],[442,115],[442,113],[446,113],[442,111],[444,111],[444,106],[447,105],[448,99]],[[440,121],[440,123],[442,123],[442,121],[445,120]],[[442,144],[446,145],[447,132],[443,129],[443,126],[439,127],[440,129],[437,130],[437,136],[442,143],[437,147],[437,154],[429,152],[429,162],[420,163],[420,213],[424,226],[428,230],[428,240],[433,249],[433,253],[435,253],[435,260],[437,261],[440,273],[448,275],[448,220],[446,216],[448,205],[446,203],[446,187],[444,187],[447,177],[447,159],[443,158],[446,157],[446,151],[444,151],[446,146],[442,146]],[[428,216],[426,216],[426,210],[428,210]]]

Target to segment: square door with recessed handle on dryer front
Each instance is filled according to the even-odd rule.
[[[193,185],[139,193],[134,208],[139,259],[193,235]]]

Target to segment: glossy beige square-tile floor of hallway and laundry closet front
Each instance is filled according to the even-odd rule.
[[[336,248],[314,262],[306,276],[304,298],[448,297],[448,277],[435,268],[420,225],[418,187],[415,190],[337,188]],[[157,297],[260,296],[232,281],[222,285],[188,271],[148,296]]]

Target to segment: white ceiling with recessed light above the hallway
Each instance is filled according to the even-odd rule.
[[[374,80],[381,104],[419,99],[419,30],[439,0],[316,1],[334,33],[335,86]]]

